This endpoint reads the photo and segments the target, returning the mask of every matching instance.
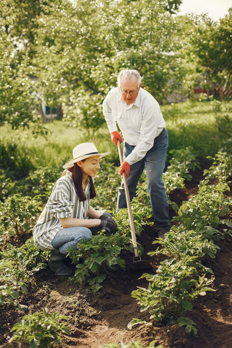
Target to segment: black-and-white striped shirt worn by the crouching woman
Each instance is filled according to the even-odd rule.
[[[57,180],[51,196],[33,228],[34,243],[39,249],[54,250],[51,242],[57,232],[63,229],[59,219],[64,217],[87,218],[86,214],[91,203],[88,180],[89,178],[85,188],[87,197],[85,201],[79,200],[70,171],[67,171],[65,176],[61,176]]]

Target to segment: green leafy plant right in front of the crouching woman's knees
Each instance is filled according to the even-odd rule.
[[[93,293],[98,291],[109,270],[115,270],[116,266],[125,268],[125,261],[120,259],[123,237],[118,233],[109,237],[98,234],[90,240],[82,239],[78,249],[69,249],[69,257],[76,265],[77,270],[71,283],[79,286],[83,280],[91,286]],[[79,263],[83,260],[83,263]]]

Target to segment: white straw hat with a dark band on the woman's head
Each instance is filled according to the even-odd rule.
[[[73,159],[63,165],[64,169],[73,167],[74,163],[82,161],[83,159],[100,156],[100,158],[109,155],[110,152],[98,153],[95,145],[93,143],[82,143],[77,145],[73,150]]]

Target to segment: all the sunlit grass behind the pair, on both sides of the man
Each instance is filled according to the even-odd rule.
[[[232,103],[227,104],[232,109]],[[199,158],[214,156],[223,142],[223,134],[216,123],[211,101],[186,101],[161,105],[169,134],[169,151],[192,146]],[[220,111],[220,116],[227,111]],[[106,161],[119,165],[118,151],[111,142],[106,124],[101,129],[85,130],[70,127],[67,121],[54,121],[45,125],[49,134],[35,136],[31,129],[12,130],[9,125],[0,127],[0,157],[2,168],[17,170],[27,175],[38,166],[57,166],[72,157],[72,149],[81,142],[93,142],[98,151],[111,151]],[[168,156],[169,159],[169,156]],[[104,162],[104,161],[103,161]]]

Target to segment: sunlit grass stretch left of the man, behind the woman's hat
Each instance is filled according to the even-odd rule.
[[[59,163],[62,170],[62,165],[72,158],[72,149],[82,142],[94,142],[99,152],[111,151],[111,161],[117,162],[117,152],[106,126],[91,136],[62,121],[46,124],[46,128],[49,130],[47,136],[35,137],[30,129],[12,130],[8,125],[1,127],[0,144],[7,152],[6,165],[13,161],[10,167],[16,163],[18,169],[20,166],[28,168],[23,171],[25,174],[38,166],[57,166]]]

